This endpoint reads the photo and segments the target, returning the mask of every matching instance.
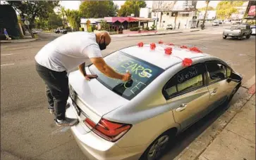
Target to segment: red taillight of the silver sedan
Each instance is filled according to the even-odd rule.
[[[95,124],[95,122],[87,118],[84,123],[87,127],[91,128],[94,133],[111,142],[120,139],[132,126],[130,124],[108,121],[106,119],[101,119],[98,124]]]

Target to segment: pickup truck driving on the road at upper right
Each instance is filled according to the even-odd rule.
[[[242,40],[244,37],[246,39],[250,39],[250,34],[252,33],[252,29],[250,28],[250,25],[232,25],[230,29],[225,29],[223,32],[223,39],[226,39],[226,37],[231,36],[233,38],[238,38]]]

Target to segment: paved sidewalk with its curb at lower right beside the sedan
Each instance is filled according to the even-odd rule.
[[[174,160],[255,159],[255,76],[239,91],[238,101]]]

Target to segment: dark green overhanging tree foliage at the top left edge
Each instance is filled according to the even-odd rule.
[[[35,18],[47,19],[59,6],[59,1],[7,1],[22,18],[26,18],[33,25]]]

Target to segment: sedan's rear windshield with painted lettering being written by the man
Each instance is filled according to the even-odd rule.
[[[125,74],[126,71],[129,71],[130,74],[132,74],[132,81],[125,83],[119,79],[111,79],[102,74],[102,72],[99,72],[95,65],[89,67],[90,72],[92,72],[92,74],[97,74],[97,80],[104,86],[128,100],[133,99],[157,76],[159,76],[159,74],[164,72],[164,69],[121,51],[116,51],[115,53],[106,56],[104,60],[107,65],[112,67],[118,73]]]

